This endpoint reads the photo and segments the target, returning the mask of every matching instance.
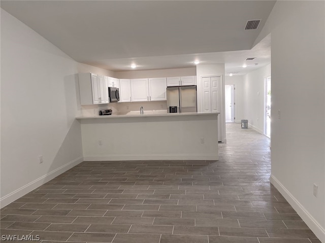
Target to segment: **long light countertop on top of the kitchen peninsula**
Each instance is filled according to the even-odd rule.
[[[153,113],[153,112],[145,112],[143,115],[140,112],[129,112],[126,114],[112,114],[107,116],[80,116],[76,117],[76,119],[112,119],[112,118],[127,118],[127,117],[168,117],[168,116],[206,116],[206,115],[218,115],[219,112],[215,113],[196,113],[196,112],[188,112],[188,113]]]

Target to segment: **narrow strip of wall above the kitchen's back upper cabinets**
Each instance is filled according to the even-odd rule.
[[[178,76],[195,76],[196,67],[172,68],[161,70],[134,70],[115,72],[115,78],[118,79],[141,79],[141,78],[162,78]]]

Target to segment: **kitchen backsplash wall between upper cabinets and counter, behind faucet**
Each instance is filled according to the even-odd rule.
[[[113,102],[103,105],[81,106],[77,116],[98,116],[100,110],[111,109],[113,114],[126,114],[140,112],[140,107],[146,112],[167,113],[167,101],[144,101],[144,102]]]

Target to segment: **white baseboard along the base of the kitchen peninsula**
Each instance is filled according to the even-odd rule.
[[[84,155],[84,161],[115,160],[218,160],[217,154],[127,154]]]

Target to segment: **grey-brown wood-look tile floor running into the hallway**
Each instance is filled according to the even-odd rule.
[[[40,242],[320,242],[270,184],[269,139],[226,124],[218,161],[82,162],[1,210]]]

